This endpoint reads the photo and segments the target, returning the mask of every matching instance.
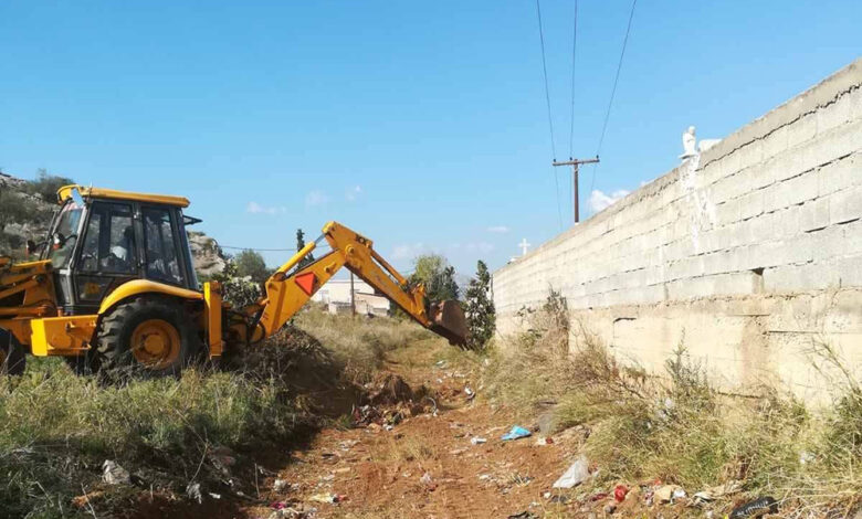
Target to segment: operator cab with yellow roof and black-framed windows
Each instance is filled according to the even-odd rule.
[[[57,304],[66,315],[95,314],[132,279],[197,290],[181,197],[69,186],[59,191],[42,260],[54,267]]]

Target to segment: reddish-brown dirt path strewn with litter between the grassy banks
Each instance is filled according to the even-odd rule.
[[[246,516],[269,518],[278,507],[285,507],[282,517],[295,517],[288,509],[314,507],[322,518],[505,518],[525,511],[537,517],[564,512],[565,506],[549,502],[544,494],[578,452],[577,433],[554,437],[553,444],[538,445],[535,433],[503,442],[501,435],[513,425],[511,416],[495,412],[465,390],[477,389],[476,369],[438,363],[440,351],[430,346],[420,343],[389,354],[385,370],[402,377],[413,389],[429,388],[437,396],[435,412],[433,404],[428,405],[425,412],[391,430],[371,424],[322,431],[311,448],[293,452],[294,463],[265,481],[271,505],[246,508]],[[473,444],[473,437],[487,442]],[[344,500],[316,500],[332,495]]]

